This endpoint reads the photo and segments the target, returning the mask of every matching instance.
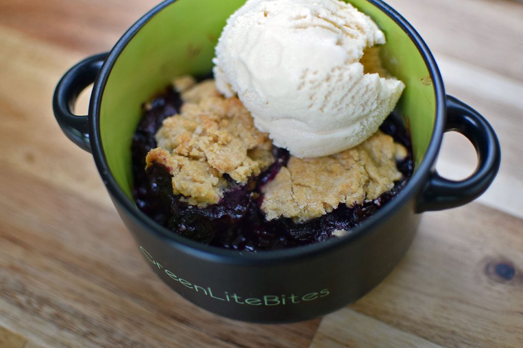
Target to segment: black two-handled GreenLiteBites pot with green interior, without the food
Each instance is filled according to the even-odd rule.
[[[380,1],[351,1],[385,33],[381,61],[406,86],[395,110],[412,142],[414,172],[405,187],[348,235],[313,245],[251,254],[173,233],[140,211],[133,199],[130,149],[142,103],[173,77],[208,74],[225,21],[243,3],[178,0],[158,5],[109,54],[89,57],[68,71],[53,107],[66,135],[92,151],[138,248],[173,290],[234,319],[310,319],[356,301],[383,280],[411,244],[421,212],[456,207],[481,195],[497,173],[499,145],[481,115],[445,95],[434,58],[405,19]],[[71,103],[93,81],[89,115],[74,116]],[[462,132],[479,154],[477,170],[462,182],[447,181],[434,171],[447,130]]]

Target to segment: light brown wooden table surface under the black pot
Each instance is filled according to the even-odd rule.
[[[0,346],[523,347],[523,4],[389,3],[426,39],[447,92],[493,124],[501,171],[476,202],[424,214],[400,266],[357,303],[264,326],[211,315],[158,280],[92,156],[54,121],[66,69],[109,50],[155,1],[2,0]],[[468,142],[446,135],[438,169],[474,166]]]

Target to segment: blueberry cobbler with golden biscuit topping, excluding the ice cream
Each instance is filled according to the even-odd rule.
[[[357,147],[300,159],[272,145],[238,98],[191,77],[144,104],[132,156],[139,209],[195,241],[245,251],[349,234],[413,172],[394,116]]]

